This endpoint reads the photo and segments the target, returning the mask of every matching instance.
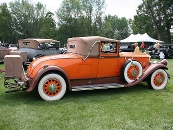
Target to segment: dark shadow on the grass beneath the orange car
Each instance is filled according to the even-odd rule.
[[[44,101],[38,94],[37,89],[34,89],[31,92],[13,92],[13,93],[4,93],[1,94],[1,105],[18,105],[21,103],[26,104],[54,104],[57,103],[67,103],[71,101],[85,100],[88,102],[94,101],[97,102],[100,99],[102,101],[109,100],[111,98],[119,98],[127,95],[140,95],[141,93],[150,93],[152,89],[149,89],[146,83],[140,83],[138,85],[127,87],[127,88],[112,88],[112,89],[100,89],[100,90],[86,90],[86,91],[68,91],[64,97],[59,101]],[[7,103],[8,102],[8,103]],[[15,102],[9,103],[9,102]],[[45,102],[45,103],[43,103]]]

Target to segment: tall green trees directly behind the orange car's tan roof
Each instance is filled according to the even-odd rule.
[[[63,0],[56,12],[61,40],[98,34],[103,8],[104,0]]]

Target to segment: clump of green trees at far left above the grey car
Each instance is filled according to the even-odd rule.
[[[57,37],[53,13],[41,3],[32,4],[28,0],[16,0],[0,6],[0,38],[10,43],[21,38]]]

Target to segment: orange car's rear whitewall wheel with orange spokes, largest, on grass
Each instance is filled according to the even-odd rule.
[[[38,93],[46,101],[61,99],[66,92],[66,82],[61,75],[47,74],[39,82]]]

